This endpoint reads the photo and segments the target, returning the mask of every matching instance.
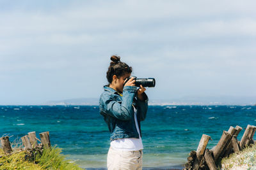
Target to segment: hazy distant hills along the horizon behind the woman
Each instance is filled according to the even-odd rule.
[[[186,96],[179,99],[150,99],[149,105],[255,105],[256,96],[254,97],[234,97],[234,96],[205,96],[193,97]],[[77,98],[66,99],[63,101],[49,101],[47,105],[98,105],[97,98]]]

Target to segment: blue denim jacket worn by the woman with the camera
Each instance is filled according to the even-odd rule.
[[[145,120],[147,115],[148,97],[143,93],[145,101],[136,99],[136,89],[135,86],[125,86],[123,96],[120,96],[116,90],[104,86],[104,92],[100,96],[99,108],[100,114],[108,124],[111,141],[118,138],[139,138],[133,106],[137,109],[137,120],[140,129],[140,122]]]

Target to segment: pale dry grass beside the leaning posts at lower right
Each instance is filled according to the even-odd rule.
[[[256,169],[256,145],[221,160],[222,169]]]

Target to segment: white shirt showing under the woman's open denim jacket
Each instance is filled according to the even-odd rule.
[[[133,106],[134,108],[134,106]],[[129,151],[135,151],[135,150],[142,150],[143,144],[140,137],[140,129],[138,125],[137,120],[137,110],[134,108],[134,120],[137,132],[139,134],[139,139],[137,138],[122,138],[122,139],[116,139],[114,141],[111,141],[110,146],[113,149],[116,150],[129,150]]]

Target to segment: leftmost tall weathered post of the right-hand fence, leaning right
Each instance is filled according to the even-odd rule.
[[[210,136],[205,135],[205,134],[202,135],[202,138],[200,139],[199,145],[196,150],[196,159],[195,159],[192,169],[195,169],[195,170],[199,169],[200,162],[201,162],[202,157],[204,157],[205,148],[209,142],[209,139],[211,139]]]

